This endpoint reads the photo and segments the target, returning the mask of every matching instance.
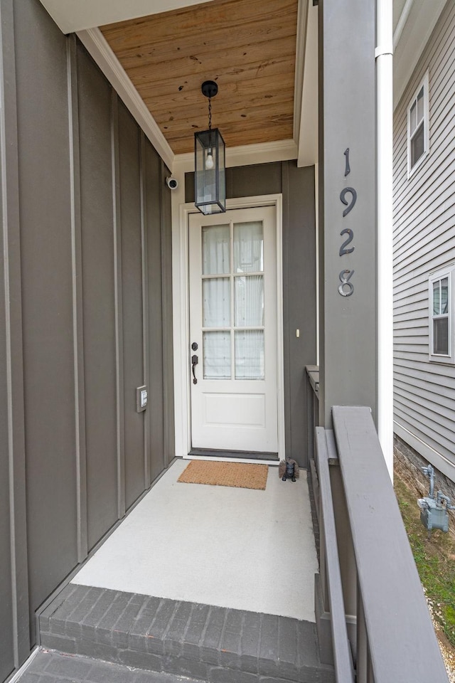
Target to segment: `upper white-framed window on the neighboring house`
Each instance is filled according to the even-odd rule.
[[[407,110],[407,171],[412,174],[429,151],[428,74]]]

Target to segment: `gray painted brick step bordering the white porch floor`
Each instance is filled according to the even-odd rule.
[[[220,683],[332,683],[314,623],[69,584],[40,616],[41,645]]]

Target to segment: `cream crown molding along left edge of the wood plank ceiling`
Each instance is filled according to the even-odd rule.
[[[77,31],[77,37],[80,38],[80,41],[82,41],[85,48],[92,55],[102,73],[109,80],[109,83],[117,90],[119,97],[121,97],[139,126],[144,130],[144,133],[166,166],[168,166],[168,169],[172,170],[175,155],[171,147],[159,129],[159,125],[154,120],[154,117],[144,104],[139,92],[134,88],[124,68],[107,44],[100,29],[90,28],[87,31]]]

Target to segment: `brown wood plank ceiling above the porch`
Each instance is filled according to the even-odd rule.
[[[298,0],[212,0],[101,31],[174,154],[212,125],[227,147],[291,139]]]

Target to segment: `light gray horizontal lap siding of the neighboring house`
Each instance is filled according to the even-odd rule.
[[[407,177],[407,107],[429,75],[429,154]],[[455,264],[455,4],[449,1],[394,120],[395,432],[455,480],[455,366],[429,361],[430,273]],[[452,332],[452,342],[453,342]]]

